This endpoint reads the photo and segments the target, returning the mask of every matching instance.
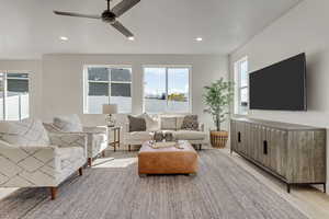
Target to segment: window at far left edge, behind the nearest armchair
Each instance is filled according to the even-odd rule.
[[[29,73],[0,72],[0,119],[29,118]]]

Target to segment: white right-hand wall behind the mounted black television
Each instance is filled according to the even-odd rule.
[[[231,78],[234,62],[243,56],[248,56],[250,71],[303,51],[307,56],[308,111],[251,111],[249,112],[250,117],[329,128],[328,9],[328,0],[302,1],[287,14],[276,20],[230,55]],[[277,89],[280,89],[280,84],[277,84]],[[329,142],[327,142],[327,146],[329,146]],[[329,158],[329,154],[327,158]]]

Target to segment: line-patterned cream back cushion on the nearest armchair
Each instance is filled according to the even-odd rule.
[[[1,122],[0,138],[15,146],[45,146],[50,145],[48,134],[38,119],[23,122]]]

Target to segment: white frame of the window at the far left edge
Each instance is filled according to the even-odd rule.
[[[29,117],[31,115],[31,71],[29,70],[0,70],[0,73],[3,73],[3,95],[2,95],[2,99],[3,99],[3,105],[2,105],[2,112],[3,112],[3,117],[1,118],[0,117],[0,120],[8,120],[8,115],[7,115],[7,112],[8,112],[8,106],[7,106],[7,97],[8,97],[8,76],[9,73],[26,73],[29,74],[27,77],[27,81],[29,81]],[[22,79],[22,80],[25,80],[25,79]],[[22,119],[21,118],[21,115],[19,116],[20,117],[20,120]]]

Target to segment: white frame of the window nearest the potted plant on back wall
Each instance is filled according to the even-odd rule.
[[[156,114],[191,114],[192,113],[192,65],[143,65],[143,93],[141,93],[141,99],[143,99],[143,113],[148,113],[145,110],[145,69],[146,68],[166,68],[166,101],[167,101],[167,106],[168,106],[168,69],[189,69],[189,110],[188,112],[173,112],[173,111],[166,111],[163,112],[158,112]]]

